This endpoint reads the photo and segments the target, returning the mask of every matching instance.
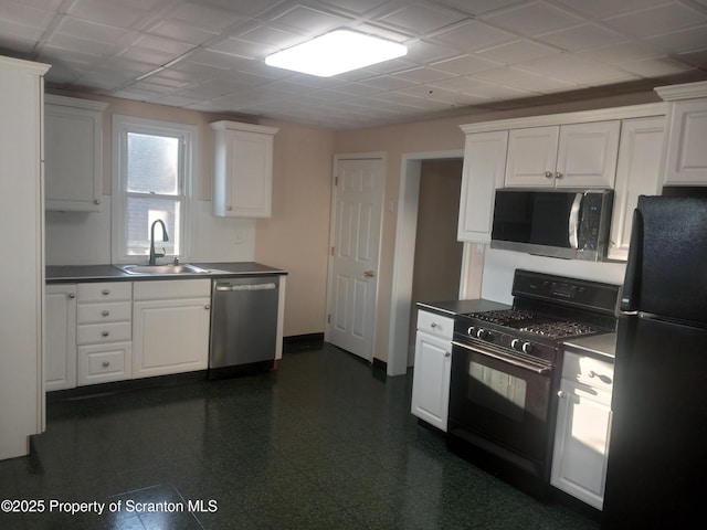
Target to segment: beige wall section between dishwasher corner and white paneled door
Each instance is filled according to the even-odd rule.
[[[273,161],[273,215],[257,220],[255,258],[286,268],[285,336],[324,331],[334,134],[278,127]]]

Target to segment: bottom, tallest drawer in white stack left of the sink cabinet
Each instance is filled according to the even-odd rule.
[[[131,378],[130,342],[78,348],[78,384],[104,383]]]

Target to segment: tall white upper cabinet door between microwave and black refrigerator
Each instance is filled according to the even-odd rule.
[[[626,119],[621,125],[621,144],[614,184],[609,258],[626,261],[639,195],[661,193],[661,157],[665,116]]]

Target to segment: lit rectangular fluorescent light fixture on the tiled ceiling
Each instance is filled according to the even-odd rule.
[[[319,77],[362,68],[408,53],[402,44],[349,30],[336,30],[265,57],[265,64]]]

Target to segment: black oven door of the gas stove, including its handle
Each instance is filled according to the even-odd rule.
[[[493,344],[453,341],[449,432],[542,475],[551,382],[551,365]]]

